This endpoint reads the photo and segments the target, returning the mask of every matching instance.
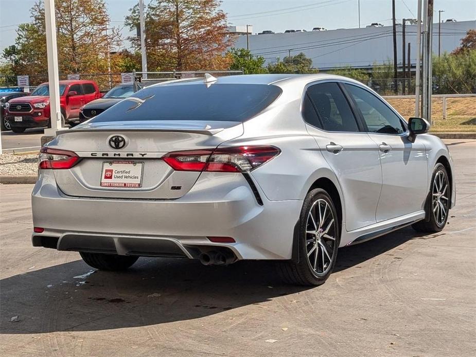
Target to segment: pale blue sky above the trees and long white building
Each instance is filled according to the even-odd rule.
[[[61,1],[61,0],[56,0]],[[105,0],[111,16],[111,25],[123,28],[124,17],[137,0]],[[150,0],[144,0],[148,4]],[[287,29],[306,29],[324,26],[327,29],[355,28],[359,0],[224,0],[221,8],[228,15],[230,25],[253,25],[253,32]],[[29,9],[35,0],[0,0],[0,51],[14,44],[16,26],[28,22]],[[395,0],[396,19],[416,18],[417,0]],[[434,16],[444,10],[442,20],[476,19],[476,0],[434,0]],[[391,0],[360,0],[361,26],[372,22],[392,24]],[[132,34],[122,29],[124,37]],[[123,47],[127,47],[127,42]]]

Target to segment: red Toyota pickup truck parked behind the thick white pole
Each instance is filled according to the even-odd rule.
[[[60,81],[61,121],[79,122],[79,109],[92,100],[101,98],[96,82],[86,80]],[[48,83],[40,84],[27,97],[8,102],[5,116],[11,130],[23,133],[26,128],[51,127]]]

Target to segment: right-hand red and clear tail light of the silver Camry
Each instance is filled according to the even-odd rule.
[[[274,146],[241,146],[215,150],[176,151],[164,161],[176,171],[248,172],[279,155]]]

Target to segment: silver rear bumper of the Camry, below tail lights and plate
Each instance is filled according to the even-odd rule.
[[[218,246],[238,259],[291,259],[303,202],[268,201],[260,192],[260,205],[243,175],[214,180],[219,174],[202,173],[180,199],[117,200],[66,196],[52,171],[41,170],[32,211],[34,226],[45,230],[33,234],[33,245],[45,246],[42,237],[51,237],[59,250],[187,258],[196,258],[197,247]],[[232,237],[236,243],[207,237]]]

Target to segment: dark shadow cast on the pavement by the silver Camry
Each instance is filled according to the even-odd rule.
[[[407,228],[342,248],[334,271],[376,257],[415,237]],[[312,289],[281,283],[271,262],[247,261],[220,267],[152,258],[140,258],[121,273],[94,271],[78,260],[5,278],[0,284],[2,334],[156,325],[261,305],[277,296]],[[20,321],[10,322],[13,316],[19,316]]]

